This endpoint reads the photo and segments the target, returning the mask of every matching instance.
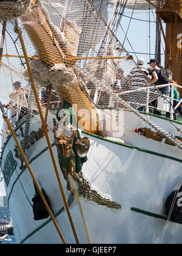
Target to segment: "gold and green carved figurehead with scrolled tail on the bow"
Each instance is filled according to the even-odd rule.
[[[83,172],[76,172],[75,157],[83,158],[89,151],[90,141],[88,138],[78,138],[75,127],[67,124],[66,114],[61,116],[59,126],[53,128],[55,134],[56,146],[58,149],[58,160],[64,179],[67,181],[67,190],[78,191],[79,196],[94,201],[99,205],[105,205],[109,208],[120,209],[118,204],[109,198],[101,196],[96,190],[90,188],[89,182],[83,177]],[[73,146],[76,146],[76,152],[73,152]]]

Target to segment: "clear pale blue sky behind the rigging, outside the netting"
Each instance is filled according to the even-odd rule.
[[[112,12],[112,7],[109,8],[109,14]],[[156,15],[155,10],[135,10],[132,16],[132,10],[126,9],[124,12],[124,15],[121,19],[121,26],[123,27],[123,30],[126,32],[130,23],[130,27],[127,32],[127,38],[129,39],[130,43],[126,40],[124,40],[125,35],[123,33],[123,30],[121,27],[118,29],[117,37],[120,40],[121,43],[124,42],[124,48],[128,52],[141,52],[136,54],[138,58],[144,59],[144,66],[146,68],[149,68],[149,65],[147,65],[147,62],[149,62],[150,59],[154,58],[155,54],[155,21]],[[132,16],[132,20],[130,21],[130,16]],[[148,22],[150,20],[150,23]],[[165,26],[164,26],[165,29]],[[132,45],[132,47],[130,46]],[[161,46],[161,53],[164,54],[164,43]],[[149,55],[151,53],[151,55]],[[134,60],[136,62],[136,56],[133,53],[130,53],[133,55]],[[164,65],[164,55],[161,55],[161,65]],[[2,104],[4,103],[3,100]],[[2,124],[3,119],[2,115],[0,113],[0,130],[2,130]],[[0,183],[0,196],[5,195],[5,188],[4,188],[4,182]]]

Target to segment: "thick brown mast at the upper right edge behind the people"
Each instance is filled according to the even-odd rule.
[[[182,85],[182,0],[166,0],[163,8],[156,12],[166,23],[165,68],[171,69],[175,82]]]

